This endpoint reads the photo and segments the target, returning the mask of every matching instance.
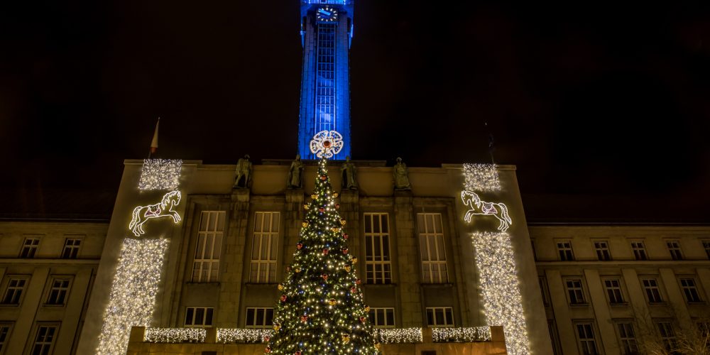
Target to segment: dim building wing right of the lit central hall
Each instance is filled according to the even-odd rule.
[[[555,354],[635,354],[709,324],[710,226],[529,229]]]

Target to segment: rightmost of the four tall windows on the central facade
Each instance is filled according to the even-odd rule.
[[[448,283],[449,273],[444,249],[442,215],[420,213],[419,243],[422,250],[422,278],[424,283]]]

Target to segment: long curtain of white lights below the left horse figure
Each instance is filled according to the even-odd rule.
[[[168,239],[124,240],[96,354],[126,354],[131,327],[150,325],[169,245]]]

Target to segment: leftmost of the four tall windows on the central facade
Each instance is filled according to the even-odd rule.
[[[193,283],[212,283],[218,280],[224,216],[225,212],[223,211],[203,211],[200,215],[200,229],[197,231],[197,244],[195,245],[195,263],[192,264]]]

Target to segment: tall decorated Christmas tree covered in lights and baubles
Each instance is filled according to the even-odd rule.
[[[293,263],[278,285],[268,354],[379,354],[337,197],[322,158]]]

